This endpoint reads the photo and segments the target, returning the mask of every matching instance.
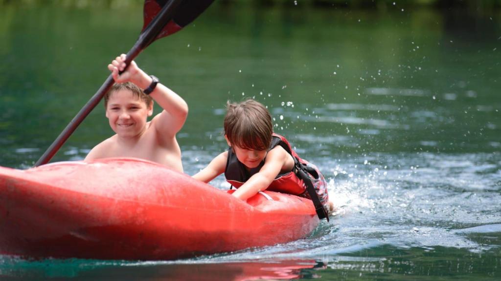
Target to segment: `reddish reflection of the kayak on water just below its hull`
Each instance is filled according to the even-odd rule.
[[[0,276],[72,280],[289,280],[315,277],[327,264],[307,259],[213,262],[187,260],[104,261],[85,259],[47,259],[27,261],[0,256]],[[306,270],[308,269],[308,270]]]

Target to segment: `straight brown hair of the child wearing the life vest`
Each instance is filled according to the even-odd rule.
[[[232,145],[244,149],[266,150],[272,142],[272,115],[254,100],[226,102],[224,134]]]

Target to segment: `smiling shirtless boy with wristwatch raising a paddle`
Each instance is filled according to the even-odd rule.
[[[186,120],[188,105],[134,61],[119,74],[125,68],[125,58],[121,54],[108,64],[116,83],[104,97],[106,117],[116,134],[92,148],[85,160],[137,157],[182,172],[176,133]],[[148,116],[153,114],[152,98],[163,111],[148,122]]]

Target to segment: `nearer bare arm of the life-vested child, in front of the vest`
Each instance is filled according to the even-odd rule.
[[[259,191],[268,188],[275,177],[280,173],[280,170],[282,170],[282,167],[286,163],[287,155],[289,154],[282,146],[277,146],[270,150],[266,155],[265,164],[259,172],[245,181],[245,183],[238,187],[232,195],[239,199],[246,200]]]

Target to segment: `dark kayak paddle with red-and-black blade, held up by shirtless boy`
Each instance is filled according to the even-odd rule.
[[[214,0],[145,0],[143,29],[136,43],[127,53],[126,65],[128,66],[142,50],[156,39],[173,34],[189,24],[213,1]],[[77,115],[73,117],[71,122],[59,134],[51,146],[47,148],[42,157],[38,159],[35,166],[46,164],[51,160],[78,125],[80,125],[92,109],[96,107],[104,94],[113,85],[113,82],[113,77],[110,74],[98,91],[84,107],[80,109]]]

